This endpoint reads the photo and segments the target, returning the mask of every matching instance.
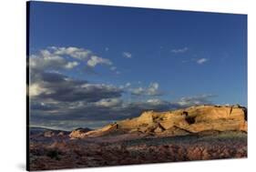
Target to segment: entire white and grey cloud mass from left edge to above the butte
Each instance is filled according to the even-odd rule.
[[[130,55],[131,57],[131,55]],[[64,75],[59,69],[72,70],[77,66],[117,67],[107,58],[77,47],[49,47],[29,57],[30,120],[32,125],[56,128],[103,126],[111,121],[139,116],[145,110],[165,111],[191,105],[210,104],[211,95],[182,97],[169,102],[162,96],[159,83],[133,87],[91,83]],[[124,94],[125,93],[125,94]],[[141,100],[126,101],[130,95]]]

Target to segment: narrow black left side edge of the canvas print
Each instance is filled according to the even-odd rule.
[[[26,170],[30,171],[29,158],[29,22],[30,2],[26,2]]]

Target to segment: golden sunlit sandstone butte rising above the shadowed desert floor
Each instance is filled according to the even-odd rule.
[[[247,132],[247,109],[242,106],[190,106],[167,112],[146,111],[138,117],[121,120],[97,130],[75,130],[69,137],[87,138],[121,134],[169,137],[207,131]]]

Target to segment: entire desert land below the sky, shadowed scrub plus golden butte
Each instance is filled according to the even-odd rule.
[[[247,157],[247,108],[145,111],[92,130],[30,127],[30,170]]]

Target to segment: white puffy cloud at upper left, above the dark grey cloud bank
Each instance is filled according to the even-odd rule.
[[[112,67],[112,62],[108,58],[95,55],[91,50],[73,46],[51,46],[29,57],[30,68],[36,70],[70,70],[79,65],[90,68],[97,65]]]

